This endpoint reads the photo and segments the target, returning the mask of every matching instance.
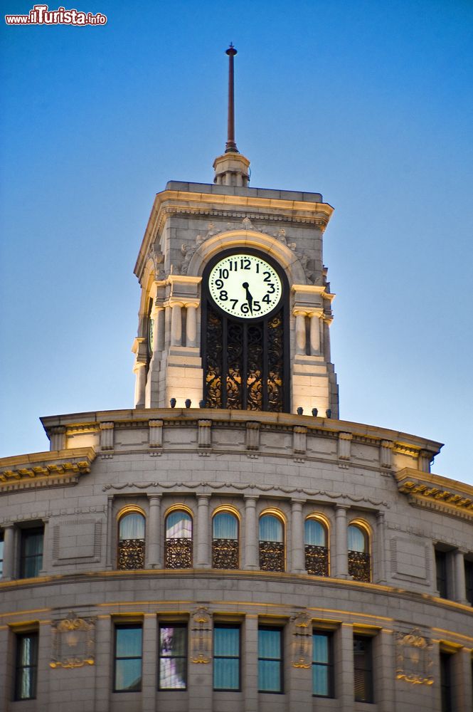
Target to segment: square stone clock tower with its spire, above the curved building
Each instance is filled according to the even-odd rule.
[[[142,288],[135,407],[208,407],[339,417],[321,194],[248,187],[234,135],[213,184],[156,195],[134,272]],[[173,402],[174,403],[174,402]]]

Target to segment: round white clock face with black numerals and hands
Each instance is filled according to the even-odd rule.
[[[245,253],[220,260],[208,277],[208,289],[220,309],[243,319],[269,314],[282,295],[275,268],[262,258]]]

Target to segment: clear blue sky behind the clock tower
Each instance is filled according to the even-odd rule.
[[[445,442],[433,471],[473,483],[472,2],[72,6],[107,25],[1,18],[0,454],[133,406],[134,262],[166,181],[213,180],[233,41],[251,185],[335,208],[341,417]]]

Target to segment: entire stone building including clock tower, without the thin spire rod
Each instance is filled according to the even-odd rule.
[[[0,710],[472,712],[473,488],[339,419],[331,206],[214,165],[154,201],[134,409],[0,461]]]

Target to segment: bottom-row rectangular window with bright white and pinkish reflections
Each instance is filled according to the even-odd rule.
[[[159,689],[185,690],[187,687],[187,626],[162,623],[159,626]]]

